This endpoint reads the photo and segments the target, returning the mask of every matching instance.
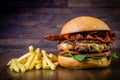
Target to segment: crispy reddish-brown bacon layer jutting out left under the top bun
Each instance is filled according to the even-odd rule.
[[[111,33],[110,31],[104,32],[97,32],[97,33],[71,33],[71,34],[64,34],[64,35],[57,35],[57,34],[48,34],[44,36],[47,40],[80,40],[80,39],[91,39],[91,40],[99,40],[101,42],[111,42],[115,40],[115,34]]]

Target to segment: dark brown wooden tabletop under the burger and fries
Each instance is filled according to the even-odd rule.
[[[112,61],[111,66],[103,69],[72,70],[57,67],[57,70],[32,70],[26,73],[11,72],[6,66],[13,54],[0,55],[0,80],[119,80],[120,62]]]

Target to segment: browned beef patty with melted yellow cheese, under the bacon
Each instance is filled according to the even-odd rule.
[[[72,51],[79,51],[79,52],[105,52],[111,49],[112,44],[105,44],[105,43],[94,43],[94,42],[85,42],[83,41],[61,41],[57,48],[59,51],[62,50],[72,50]]]

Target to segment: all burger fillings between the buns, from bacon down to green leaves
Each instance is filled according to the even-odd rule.
[[[48,34],[44,38],[52,41],[58,40],[57,48],[60,55],[73,57],[76,60],[82,61],[86,57],[98,59],[111,56],[117,58],[115,53],[110,52],[112,42],[115,40],[115,34],[111,31]]]

